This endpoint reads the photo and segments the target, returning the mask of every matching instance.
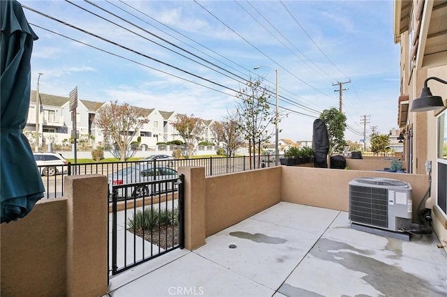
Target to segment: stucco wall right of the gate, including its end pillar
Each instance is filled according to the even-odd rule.
[[[281,167],[205,178],[203,167],[181,167],[184,174],[185,248],[205,244],[206,236],[281,201]]]

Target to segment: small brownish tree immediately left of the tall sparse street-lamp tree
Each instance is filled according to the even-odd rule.
[[[237,148],[244,146],[244,138],[238,132],[239,123],[235,119],[228,117],[221,122],[214,122],[211,126],[211,132],[217,142],[225,144],[226,155],[234,156]]]

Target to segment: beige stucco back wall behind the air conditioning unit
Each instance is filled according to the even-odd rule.
[[[416,220],[418,204],[428,190],[428,177],[423,174],[282,167],[282,201],[349,211],[349,182],[363,176],[394,178],[410,183],[413,189],[413,221]]]

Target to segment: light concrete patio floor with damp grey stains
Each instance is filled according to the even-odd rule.
[[[438,243],[369,234],[351,229],[348,213],[281,202],[197,250],[112,277],[109,296],[447,296]]]

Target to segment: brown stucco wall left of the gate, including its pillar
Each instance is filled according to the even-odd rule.
[[[102,296],[108,287],[107,178],[67,176],[66,196],[1,224],[1,296]]]

